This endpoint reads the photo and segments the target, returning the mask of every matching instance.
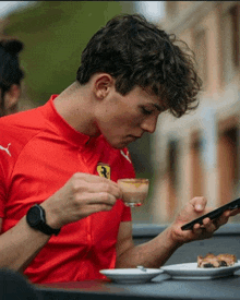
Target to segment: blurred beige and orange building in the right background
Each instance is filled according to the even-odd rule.
[[[193,196],[211,206],[240,196],[240,2],[165,1],[158,25],[187,41],[203,80],[200,106],[159,116],[153,142],[153,223],[169,223]]]

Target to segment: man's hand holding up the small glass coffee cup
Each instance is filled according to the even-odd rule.
[[[46,211],[47,224],[52,228],[60,228],[94,213],[110,211],[121,196],[121,190],[116,182],[77,172],[41,206]]]

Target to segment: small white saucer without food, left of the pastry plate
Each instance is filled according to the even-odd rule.
[[[140,284],[149,281],[157,275],[163,274],[164,271],[159,268],[146,268],[146,272],[139,268],[111,268],[101,269],[100,273],[116,283]]]

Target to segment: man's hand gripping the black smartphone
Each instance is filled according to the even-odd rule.
[[[204,197],[192,199],[179,213],[173,224],[170,226],[171,238],[177,243],[185,243],[193,240],[203,240],[212,238],[221,225],[228,221],[229,216],[240,213],[240,209],[226,211],[217,219],[211,220],[209,218],[203,219],[203,225],[195,224],[192,230],[182,230],[181,226],[209,213],[213,208],[206,208],[206,200]]]

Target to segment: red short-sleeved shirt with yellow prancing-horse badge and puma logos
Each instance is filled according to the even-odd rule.
[[[103,135],[89,139],[75,131],[56,111],[56,96],[41,107],[0,119],[2,232],[75,172],[108,175],[113,181],[134,177],[128,151],[112,148]],[[130,220],[130,208],[118,200],[110,212],[65,225],[40,250],[25,275],[34,283],[103,278],[99,269],[115,267],[120,223]]]

